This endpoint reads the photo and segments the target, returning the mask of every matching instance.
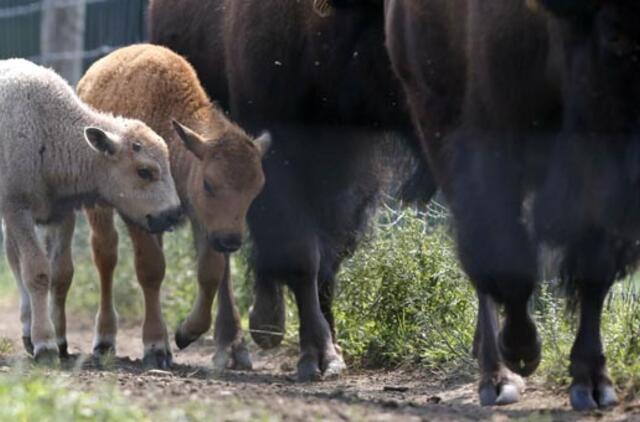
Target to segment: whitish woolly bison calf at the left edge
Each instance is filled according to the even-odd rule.
[[[152,232],[175,224],[180,203],[165,142],[140,121],[91,109],[51,70],[0,61],[0,216],[24,344],[38,361],[67,354],[74,209],[92,203]]]

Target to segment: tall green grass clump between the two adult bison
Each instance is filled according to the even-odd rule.
[[[344,265],[335,311],[352,364],[442,369],[470,361],[475,294],[446,226],[426,217],[386,209]]]

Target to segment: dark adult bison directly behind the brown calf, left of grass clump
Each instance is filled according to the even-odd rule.
[[[339,373],[335,275],[380,190],[381,135],[418,145],[384,49],[381,4],[154,0],[149,16],[152,42],[187,57],[244,128],[273,136],[266,185],[249,213],[254,339],[281,338],[261,333],[282,331],[285,283],[300,314],[299,378]],[[419,186],[424,198],[435,189],[424,165],[406,186]]]

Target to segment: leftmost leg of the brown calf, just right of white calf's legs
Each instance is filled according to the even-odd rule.
[[[100,306],[96,315],[93,355],[101,358],[115,354],[118,314],[113,304],[113,272],[118,263],[118,231],[112,208],[86,210],[91,226],[93,262],[100,277]]]

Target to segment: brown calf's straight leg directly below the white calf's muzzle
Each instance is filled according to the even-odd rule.
[[[144,295],[144,321],[142,343],[144,344],[144,366],[160,369],[171,367],[172,355],[167,326],[162,317],[160,286],[165,274],[162,238],[128,225],[135,253],[138,283]]]

